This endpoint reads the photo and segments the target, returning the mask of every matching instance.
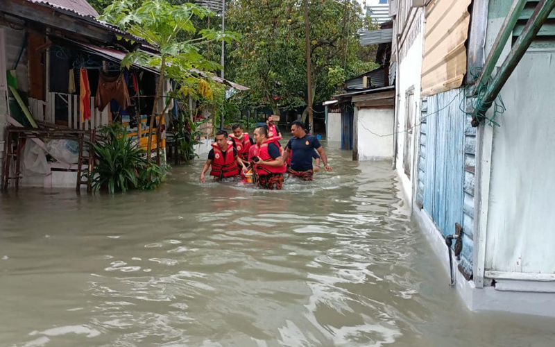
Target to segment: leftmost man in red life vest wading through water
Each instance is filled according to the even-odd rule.
[[[212,167],[210,176],[214,176],[216,180],[239,176],[239,168],[246,170],[245,164],[237,155],[237,149],[234,148],[233,142],[228,141],[228,133],[224,130],[216,133],[216,142],[212,144],[212,149],[208,153],[208,160],[200,173],[200,182],[205,182],[204,175],[210,167]]]

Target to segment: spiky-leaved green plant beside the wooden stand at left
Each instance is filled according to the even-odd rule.
[[[134,188],[154,189],[162,183],[164,170],[146,161],[145,151],[125,136],[125,127],[112,123],[100,128],[99,133],[104,140],[93,144],[99,161],[92,171],[93,189],[105,187],[114,194]]]

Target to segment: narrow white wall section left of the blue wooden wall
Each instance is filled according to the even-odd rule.
[[[422,11],[417,12],[417,16],[414,19],[413,26],[417,21],[423,21],[423,17],[421,15]],[[422,22],[421,22],[422,23]],[[414,87],[414,101],[416,101],[415,107],[415,115],[416,119],[413,119],[413,124],[416,124],[416,121],[419,119],[418,114],[420,113],[420,85],[422,78],[420,74],[422,73],[422,36],[423,36],[423,28],[424,25],[420,25],[420,33],[416,36],[412,46],[407,51],[407,55],[404,57],[402,62],[398,65],[398,74],[397,74],[397,82],[398,83],[398,91],[399,91],[399,103],[398,103],[398,126],[397,131],[399,132],[398,135],[398,142],[397,142],[397,162],[395,166],[397,167],[398,175],[400,177],[403,191],[405,197],[412,200],[412,180],[404,174],[403,169],[403,156],[404,156],[404,129],[405,129],[405,114],[407,112],[407,90],[411,87]],[[409,29],[410,30],[410,29]],[[413,142],[416,139],[416,135],[418,132],[416,128],[413,130]],[[416,153],[413,156],[413,169],[416,162]],[[413,170],[414,171],[414,170]],[[411,175],[414,178],[415,174]]]

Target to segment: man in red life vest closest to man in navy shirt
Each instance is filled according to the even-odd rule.
[[[283,174],[287,169],[277,137],[268,138],[268,128],[260,126],[255,129],[254,156],[250,158],[258,176],[258,185],[266,189],[280,190],[283,187]]]

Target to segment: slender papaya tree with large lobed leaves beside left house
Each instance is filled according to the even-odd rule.
[[[146,51],[133,51],[126,55],[122,66],[133,63],[153,67],[160,71],[160,80],[154,98],[151,121],[148,129],[147,153],[150,160],[152,132],[158,101],[162,96],[164,78],[173,78],[182,85],[192,85],[200,78],[197,71],[214,71],[219,68],[215,62],[203,58],[198,49],[200,42],[225,40],[231,42],[236,38],[233,33],[221,33],[214,29],[197,31],[193,18],[203,19],[212,15],[206,8],[185,3],[172,5],[165,0],[120,0],[108,6],[102,19],[117,24],[123,30],[143,37],[154,46],[160,54]],[[167,111],[169,103],[162,115]]]

